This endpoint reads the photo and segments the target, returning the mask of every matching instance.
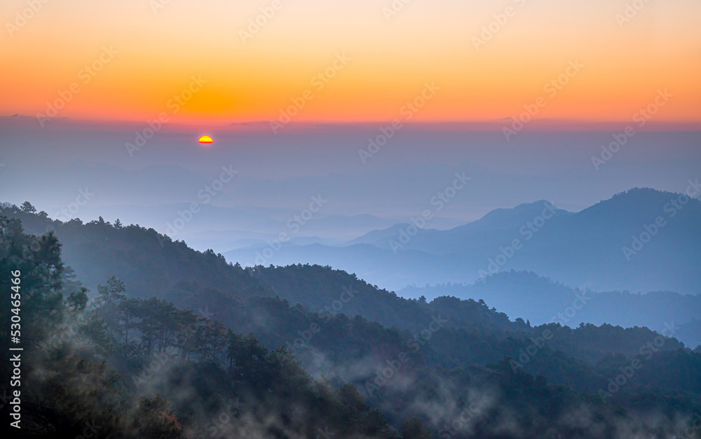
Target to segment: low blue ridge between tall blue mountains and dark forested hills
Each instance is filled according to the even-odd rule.
[[[658,332],[674,326],[681,342],[691,347],[701,344],[701,295],[669,291],[594,293],[569,288],[533,272],[501,272],[472,285],[407,287],[397,293],[407,298],[423,295],[428,300],[442,296],[481,299],[534,326],[560,323],[576,328],[580,323],[608,323],[624,328],[646,326]]]

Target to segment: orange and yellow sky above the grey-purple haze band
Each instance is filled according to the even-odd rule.
[[[391,0],[281,0],[245,43],[240,31],[272,1],[170,0],[154,12],[157,1],[49,0],[17,29],[8,23],[26,1],[2,1],[0,116],[44,113],[79,83],[58,117],[271,120],[312,90],[295,122],[380,121],[428,81],[441,90],[415,120],[509,118],[543,96],[538,118],[629,121],[667,89],[674,97],[655,120],[701,121],[697,0],[651,0],[622,26],[625,0],[412,0],[389,20]],[[507,6],[515,15],[477,50],[472,37]],[[118,54],[84,84],[103,46]],[[316,90],[311,78],[340,53],[351,61]],[[543,86],[573,60],[585,68],[548,97]],[[168,100],[192,75],[207,84],[173,114]]]

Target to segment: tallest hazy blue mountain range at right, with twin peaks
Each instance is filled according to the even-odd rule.
[[[450,230],[397,224],[336,246],[268,244],[224,256],[242,265],[332,265],[389,289],[525,270],[593,291],[698,293],[701,202],[635,188],[576,213],[542,200]]]

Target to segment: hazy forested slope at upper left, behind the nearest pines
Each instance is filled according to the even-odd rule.
[[[26,206],[4,203],[0,216],[22,221],[25,232],[43,235],[55,232],[62,245],[64,263],[71,266],[83,284],[95,291],[104,279],[116,276],[129,286],[132,295],[161,296],[178,281],[191,281],[217,288],[236,298],[269,295],[270,291],[240,265],[226,263],[213,251],[200,252],[182,241],[172,241],[154,229],[102,221],[85,223],[74,219],[63,223]]]

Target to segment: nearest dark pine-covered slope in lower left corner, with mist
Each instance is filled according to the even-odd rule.
[[[18,345],[3,300],[0,378],[21,379],[1,396],[3,438],[400,438],[355,386],[313,379],[290,351],[269,351],[252,334],[169,302],[129,298],[114,278],[88,305],[55,237],[25,235],[1,216],[0,273],[3,295],[21,298],[13,337],[23,349],[7,368]],[[417,428],[418,419],[402,426]]]

